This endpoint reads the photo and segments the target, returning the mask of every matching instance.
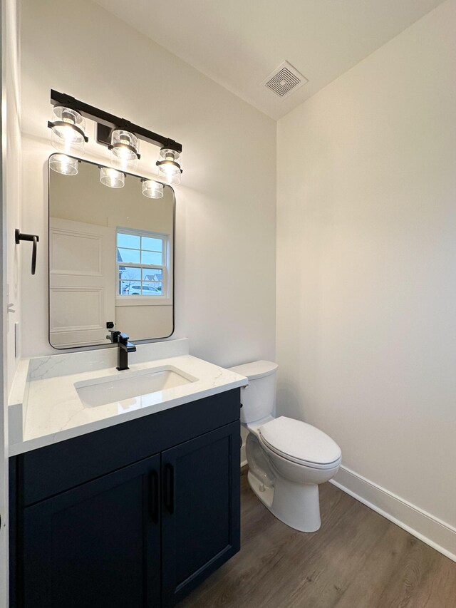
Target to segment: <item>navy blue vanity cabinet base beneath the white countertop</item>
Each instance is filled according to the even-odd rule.
[[[10,458],[11,608],[168,608],[239,550],[239,389]]]

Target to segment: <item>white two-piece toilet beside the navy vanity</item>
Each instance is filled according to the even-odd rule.
[[[315,532],[321,525],[318,484],[336,475],[341,448],[310,424],[275,417],[277,368],[272,361],[231,368],[249,378],[249,386],[241,389],[249,484],[279,520]]]

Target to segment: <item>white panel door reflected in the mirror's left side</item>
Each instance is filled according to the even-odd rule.
[[[52,346],[107,343],[115,322],[115,230],[49,218],[49,334]]]

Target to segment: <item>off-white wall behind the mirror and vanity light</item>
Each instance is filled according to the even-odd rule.
[[[88,0],[24,0],[21,19],[23,225],[40,235],[36,276],[23,264],[23,356],[52,351],[45,165],[54,88],[182,142],[173,337],[226,366],[274,358],[274,120]],[[86,158],[108,159],[105,148],[86,148]],[[150,148],[144,175],[158,152]]]

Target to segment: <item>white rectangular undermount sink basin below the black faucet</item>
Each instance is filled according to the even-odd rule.
[[[120,403],[128,409],[144,407],[162,401],[162,391],[197,381],[197,378],[172,366],[124,373],[125,376],[76,382],[74,386],[83,406],[96,408]]]

